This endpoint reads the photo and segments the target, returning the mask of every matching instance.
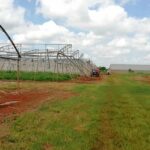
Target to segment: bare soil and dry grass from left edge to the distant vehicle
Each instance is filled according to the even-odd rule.
[[[0,122],[9,115],[20,114],[36,108],[47,100],[65,100],[75,93],[71,89],[76,83],[99,83],[106,76],[79,77],[66,82],[21,81],[17,90],[15,81],[0,81]]]

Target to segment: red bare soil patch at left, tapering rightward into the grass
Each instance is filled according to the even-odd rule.
[[[15,91],[15,92],[4,92],[0,91],[0,122],[6,116],[12,114],[20,114],[21,112],[27,111],[31,108],[35,108],[41,102],[46,100],[54,99],[67,99],[72,96],[72,93],[66,91],[55,91],[51,89],[49,91],[36,90],[36,91]],[[6,102],[17,101],[10,105],[3,105]],[[2,106],[1,106],[2,104]]]

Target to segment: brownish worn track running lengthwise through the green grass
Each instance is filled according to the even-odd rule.
[[[106,93],[106,102],[100,114],[100,128],[99,128],[99,137],[96,139],[96,143],[93,146],[92,150],[114,150],[113,142],[117,138],[117,134],[113,130],[111,124],[110,115],[113,112],[113,97],[114,93],[112,92],[112,85],[115,86],[118,84],[112,78],[108,81],[109,85],[105,90]]]

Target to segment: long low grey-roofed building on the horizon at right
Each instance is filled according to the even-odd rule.
[[[111,72],[150,72],[150,65],[139,64],[111,64],[109,67]]]

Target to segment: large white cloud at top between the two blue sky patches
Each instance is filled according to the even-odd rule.
[[[128,17],[115,0],[37,0],[38,13],[44,17],[63,20],[66,27],[96,34],[133,32],[136,19]],[[97,9],[90,9],[97,5]]]

